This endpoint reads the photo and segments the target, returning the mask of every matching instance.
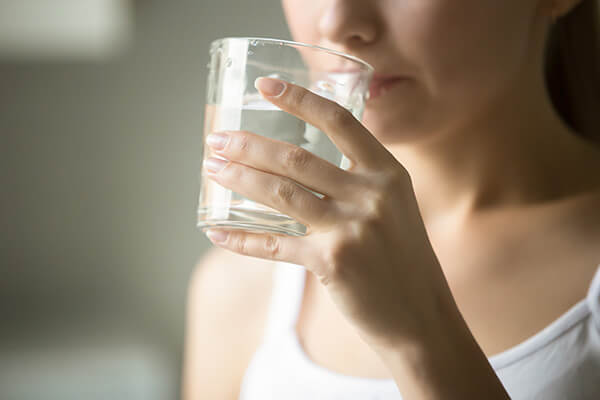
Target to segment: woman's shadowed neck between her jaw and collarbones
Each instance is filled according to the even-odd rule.
[[[388,146],[411,175],[424,220],[600,188],[600,148],[565,125],[541,79],[532,81],[429,142]]]

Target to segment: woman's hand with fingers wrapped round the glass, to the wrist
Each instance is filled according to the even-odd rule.
[[[296,145],[231,131],[220,185],[306,225],[305,236],[228,231],[236,253],[305,266],[367,343],[387,347],[434,329],[453,306],[407,171],[345,108],[300,86],[261,78],[262,95],[325,132],[351,161],[340,169]],[[284,84],[282,93],[268,88]],[[210,162],[210,161],[209,161]],[[205,164],[206,165],[206,164]],[[210,165],[210,164],[209,164]],[[297,185],[324,194],[322,199]],[[209,237],[211,237],[209,236]]]

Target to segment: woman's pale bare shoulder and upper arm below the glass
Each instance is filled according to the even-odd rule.
[[[275,262],[212,247],[188,290],[183,398],[237,399],[263,335]]]

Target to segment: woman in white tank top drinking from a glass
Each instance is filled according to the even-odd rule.
[[[210,234],[184,397],[600,398],[594,1],[282,3],[294,40],[402,79],[362,123],[257,82],[352,166],[225,136],[212,179],[308,232]]]

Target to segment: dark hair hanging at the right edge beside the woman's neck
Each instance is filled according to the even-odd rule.
[[[546,83],[554,107],[581,136],[600,145],[600,37],[597,0],[582,0],[550,28]]]

